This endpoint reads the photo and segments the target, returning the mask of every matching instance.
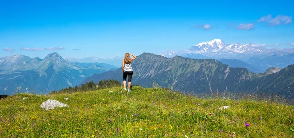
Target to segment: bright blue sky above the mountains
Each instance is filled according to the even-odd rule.
[[[113,58],[212,39],[294,48],[293,0],[84,1],[1,0],[0,57]]]

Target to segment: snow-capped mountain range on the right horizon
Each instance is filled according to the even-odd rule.
[[[189,57],[194,59],[238,59],[251,67],[265,72],[270,67],[285,68],[294,64],[294,48],[267,49],[265,44],[226,44],[220,39],[202,42],[186,50],[166,50],[160,55],[165,57]],[[234,65],[231,65],[234,66]],[[254,71],[254,70],[251,70]],[[260,73],[257,71],[256,73]]]

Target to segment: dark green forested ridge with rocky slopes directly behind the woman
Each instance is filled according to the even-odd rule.
[[[134,68],[132,83],[145,87],[151,87],[155,82],[162,87],[181,92],[243,91],[254,93],[259,86],[258,91],[273,92],[288,98],[293,98],[294,93],[294,65],[271,74],[256,74],[246,68],[233,68],[214,59],[191,59],[180,56],[166,58],[150,53],[141,54],[132,65]],[[279,75],[282,75],[283,78],[280,78]],[[104,79],[123,81],[122,68],[94,74],[82,83],[91,80],[98,82]]]

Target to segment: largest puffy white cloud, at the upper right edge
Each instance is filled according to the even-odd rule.
[[[290,24],[292,22],[291,16],[285,16],[285,15],[277,15],[275,18],[273,18],[271,15],[267,15],[264,17],[261,17],[257,22],[266,22],[267,25],[270,26],[276,26],[284,23],[285,25]]]

